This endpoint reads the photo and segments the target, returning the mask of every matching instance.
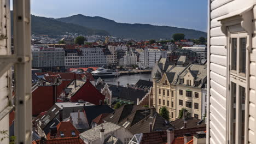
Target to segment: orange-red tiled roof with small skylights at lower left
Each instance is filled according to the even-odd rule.
[[[55,137],[60,137],[60,131],[62,131],[62,133],[64,134],[64,137],[72,137],[71,132],[74,131],[75,136],[79,135],[79,131],[77,129],[75,129],[75,127],[73,126],[73,124],[71,124],[71,122],[60,122],[57,126],[57,136]],[[56,139],[55,137],[51,137],[51,134],[48,133],[47,134],[47,139]]]

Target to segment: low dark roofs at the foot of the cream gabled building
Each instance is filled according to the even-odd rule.
[[[202,120],[194,118],[194,117],[188,117],[188,118],[186,118],[185,121],[187,121],[187,129],[206,127],[206,124]],[[176,121],[171,122],[171,124],[176,129],[182,129],[184,127],[184,120],[182,118],[179,118],[179,119],[176,119]]]

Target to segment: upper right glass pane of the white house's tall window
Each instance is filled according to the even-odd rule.
[[[246,73],[246,38],[240,38],[240,73]]]

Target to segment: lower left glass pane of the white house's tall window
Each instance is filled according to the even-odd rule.
[[[232,127],[231,127],[231,134],[232,134],[232,143],[235,143],[236,140],[236,83],[231,82],[231,121],[232,121]]]

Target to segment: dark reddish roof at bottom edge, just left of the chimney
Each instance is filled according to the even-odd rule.
[[[166,131],[143,133],[140,144],[162,144],[167,142]]]

